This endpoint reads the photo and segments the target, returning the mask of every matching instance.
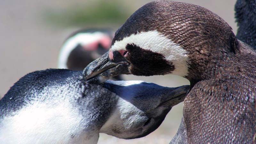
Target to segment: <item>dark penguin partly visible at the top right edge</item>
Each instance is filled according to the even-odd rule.
[[[256,49],[256,1],[237,0],[235,5],[236,37]]]

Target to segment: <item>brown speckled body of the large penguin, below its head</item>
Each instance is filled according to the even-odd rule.
[[[194,85],[183,108],[188,143],[255,143],[255,72],[255,52],[241,52]]]

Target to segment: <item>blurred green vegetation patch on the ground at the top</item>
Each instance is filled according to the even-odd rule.
[[[47,22],[57,26],[86,26],[122,24],[130,14],[127,7],[118,1],[100,0],[67,9],[47,10],[44,17]]]

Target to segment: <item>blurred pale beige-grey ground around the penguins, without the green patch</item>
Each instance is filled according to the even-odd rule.
[[[236,33],[234,19],[235,0],[180,0],[198,4],[212,10],[228,22]],[[71,4],[86,4],[92,0],[1,0],[0,1],[0,98],[21,76],[46,68],[56,68],[57,56],[64,39],[78,28],[56,28],[47,25],[42,12],[47,9],[66,8]],[[135,11],[148,0],[124,1]],[[125,76],[126,80],[144,80],[156,84],[174,87],[189,84],[178,76],[136,77]],[[148,136],[135,140],[121,140],[106,134],[100,134],[101,144],[126,143],[168,143],[180,124],[183,103],[173,107],[163,124]]]

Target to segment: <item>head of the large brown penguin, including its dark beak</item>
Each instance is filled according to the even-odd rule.
[[[116,31],[108,54],[99,59],[104,61],[91,64],[92,71],[85,77],[109,74],[109,68],[113,71],[121,65],[126,69],[118,74],[200,77],[213,59],[235,53],[236,44],[231,27],[205,8],[172,1],[151,2]]]

